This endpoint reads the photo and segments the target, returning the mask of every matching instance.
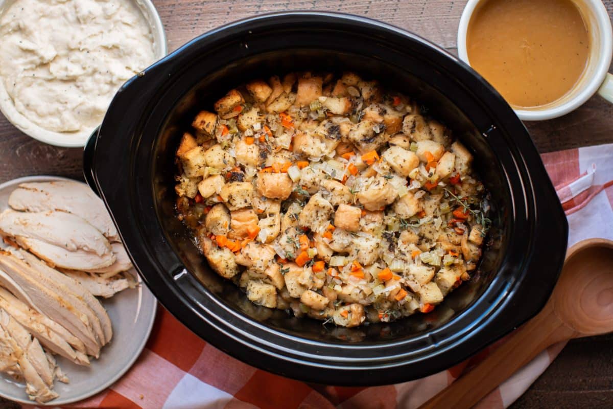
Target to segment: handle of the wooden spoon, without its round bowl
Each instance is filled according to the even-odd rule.
[[[573,330],[555,316],[549,302],[535,318],[470,372],[462,375],[421,408],[470,408],[547,346],[573,337]]]

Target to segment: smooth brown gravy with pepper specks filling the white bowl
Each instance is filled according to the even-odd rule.
[[[571,0],[487,0],[468,24],[470,65],[514,107],[538,107],[572,90],[590,39]]]

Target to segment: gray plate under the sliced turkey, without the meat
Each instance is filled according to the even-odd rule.
[[[0,211],[9,207],[9,195],[24,182],[62,180],[60,177],[23,177],[0,185]],[[157,302],[147,286],[126,289],[110,299],[101,299],[113,323],[113,339],[102,348],[99,359],[92,359],[89,367],[73,364],[56,356],[58,365],[70,383],[55,381],[53,388],[59,397],[47,405],[66,405],[97,394],[108,388],[134,364],[151,334]],[[25,392],[25,384],[0,374],[0,396],[20,403],[32,403]],[[37,403],[40,405],[40,403]]]

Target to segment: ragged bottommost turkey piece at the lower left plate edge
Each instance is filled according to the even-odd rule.
[[[10,369],[10,373],[14,376],[14,373],[17,372],[18,375],[24,378],[26,381],[26,393],[29,399],[45,403],[58,397],[58,394],[48,388],[45,381],[42,380],[34,368],[34,365],[29,361],[28,351],[23,350],[2,326],[0,326],[0,351],[2,351],[2,356],[17,357],[18,369],[13,367]]]

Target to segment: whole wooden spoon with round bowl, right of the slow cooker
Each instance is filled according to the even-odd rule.
[[[583,240],[566,253],[560,279],[543,310],[421,408],[473,407],[547,346],[607,332],[613,332],[613,242]]]

